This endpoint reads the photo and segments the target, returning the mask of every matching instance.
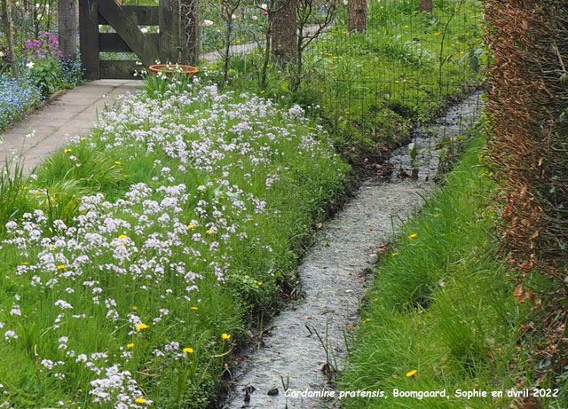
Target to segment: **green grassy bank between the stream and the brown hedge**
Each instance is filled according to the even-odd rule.
[[[512,401],[510,359],[529,307],[516,303],[508,271],[494,256],[495,186],[480,167],[483,147],[477,137],[378,264],[340,387],[382,389],[389,397],[350,398],[343,407],[493,408]],[[393,389],[446,389],[449,397],[394,397]],[[457,389],[489,393],[468,399]]]

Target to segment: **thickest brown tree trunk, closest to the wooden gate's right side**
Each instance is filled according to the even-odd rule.
[[[296,59],[296,0],[280,0],[274,10],[272,55],[288,64]]]

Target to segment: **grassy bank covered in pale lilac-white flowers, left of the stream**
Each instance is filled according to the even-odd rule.
[[[154,79],[0,180],[0,401],[205,407],[347,166],[301,108]],[[117,406],[118,405],[118,406]]]

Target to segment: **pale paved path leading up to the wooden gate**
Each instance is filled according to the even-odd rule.
[[[63,146],[68,136],[87,135],[105,104],[142,85],[137,80],[96,80],[68,90],[28,119],[0,134],[0,154],[12,158],[23,153],[24,173]],[[34,136],[26,138],[32,131]]]

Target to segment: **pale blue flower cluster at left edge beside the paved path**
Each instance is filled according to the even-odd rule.
[[[38,106],[40,91],[31,84],[0,75],[0,130],[19,121],[32,106]]]

